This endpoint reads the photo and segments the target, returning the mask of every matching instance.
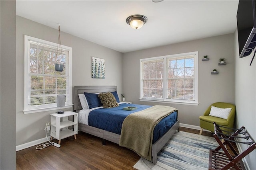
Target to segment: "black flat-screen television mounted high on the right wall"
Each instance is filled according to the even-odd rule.
[[[240,58],[250,55],[256,47],[255,5],[255,0],[239,0],[236,20]]]

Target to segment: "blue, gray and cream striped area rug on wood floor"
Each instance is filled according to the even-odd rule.
[[[213,137],[176,132],[158,153],[156,165],[140,158],[138,170],[207,170],[209,150],[218,147]]]

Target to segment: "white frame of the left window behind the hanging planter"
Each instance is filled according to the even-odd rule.
[[[58,109],[57,103],[54,104],[47,104],[47,105],[40,105],[40,106],[30,106],[28,104],[28,96],[29,96],[29,71],[30,71],[30,40],[36,41],[38,43],[42,43],[44,45],[49,45],[52,47],[57,47],[57,43],[53,43],[50,41],[46,41],[43,39],[38,39],[35,37],[30,37],[28,35],[24,35],[24,114],[28,113],[37,113],[42,111],[50,111]],[[70,108],[72,107],[72,47],[68,47],[62,45],[62,49],[68,51],[68,92],[69,97],[65,102],[65,106],[62,108]]]

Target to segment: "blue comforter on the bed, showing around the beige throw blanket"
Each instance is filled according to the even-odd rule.
[[[124,107],[137,107],[132,111],[123,110]],[[122,124],[126,116],[137,111],[144,110],[151,106],[136,105],[136,104],[120,104],[118,107],[95,109],[90,112],[88,117],[88,124],[99,129],[103,129],[112,133],[121,134]],[[154,129],[153,143],[157,141],[164,133],[166,133],[172,125],[177,121],[178,113],[166,116],[162,119]]]

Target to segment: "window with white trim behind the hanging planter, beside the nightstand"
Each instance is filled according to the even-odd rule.
[[[72,48],[25,35],[24,113],[56,109],[57,94],[65,94],[65,107],[72,107]],[[64,64],[62,72],[55,63]],[[64,107],[64,108],[65,108]]]

